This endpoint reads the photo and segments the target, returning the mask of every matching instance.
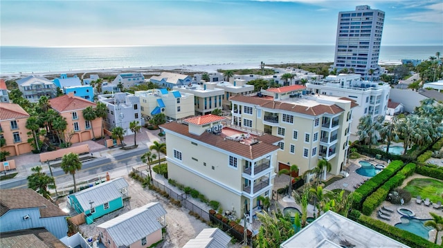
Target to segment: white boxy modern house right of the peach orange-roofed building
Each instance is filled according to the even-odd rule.
[[[145,124],[145,120],[141,117],[140,97],[129,93],[105,94],[98,95],[98,101],[107,106],[108,115],[104,122],[105,128],[109,131],[120,126],[125,135],[130,135],[134,134],[129,128],[130,122],[137,121],[141,126]]]

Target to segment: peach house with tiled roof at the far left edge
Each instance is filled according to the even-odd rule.
[[[0,137],[6,140],[2,151],[10,156],[30,153],[32,147],[28,143],[26,121],[30,115],[19,104],[0,103]]]

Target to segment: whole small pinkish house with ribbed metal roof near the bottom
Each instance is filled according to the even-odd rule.
[[[107,248],[150,247],[163,239],[166,211],[159,202],[151,202],[97,226]]]

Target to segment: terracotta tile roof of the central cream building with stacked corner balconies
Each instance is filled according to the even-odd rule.
[[[280,137],[275,137],[269,134],[264,134],[258,137],[259,142],[257,144],[249,145],[242,144],[240,142],[235,142],[233,140],[224,139],[219,135],[215,135],[213,133],[202,133],[201,135],[194,135],[188,132],[188,126],[184,124],[179,124],[177,122],[170,122],[161,125],[161,128],[172,131],[174,133],[179,133],[181,135],[185,135],[192,140],[197,140],[199,142],[204,142],[210,146],[215,146],[219,149],[223,149],[224,151],[228,151],[230,153],[235,153],[244,158],[255,159],[267,153],[271,153],[273,151],[277,151],[280,149],[278,146],[273,145],[271,142],[279,142],[282,140]],[[267,137],[271,136],[271,137]]]

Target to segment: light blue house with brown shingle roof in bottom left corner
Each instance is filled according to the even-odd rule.
[[[0,232],[2,233],[44,227],[60,239],[67,235],[68,216],[62,209],[32,189],[0,189]]]

